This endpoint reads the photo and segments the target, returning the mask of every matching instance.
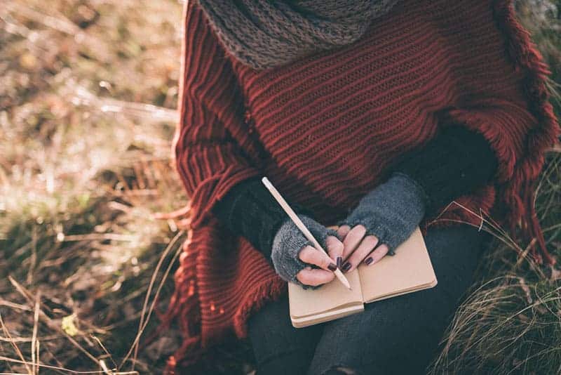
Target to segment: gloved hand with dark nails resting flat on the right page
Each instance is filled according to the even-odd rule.
[[[393,173],[360,199],[356,209],[337,223],[344,244],[341,270],[349,272],[360,262],[372,265],[393,255],[421,222],[425,199],[422,188],[404,173]]]

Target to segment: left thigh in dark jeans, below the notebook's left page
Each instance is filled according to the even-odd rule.
[[[292,327],[288,294],[269,301],[248,320],[257,375],[306,374],[323,327]]]

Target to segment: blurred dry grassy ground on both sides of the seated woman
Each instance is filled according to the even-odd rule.
[[[561,0],[515,6],[560,116]],[[158,322],[156,297],[165,308],[188,230],[161,214],[189,203],[171,159],[182,7],[0,0],[1,373],[158,374],[180,345],[170,329],[135,348]],[[546,155],[537,195],[557,256],[560,151]],[[560,373],[560,278],[497,237],[433,373]],[[244,341],[213,350],[201,373],[252,372]]]

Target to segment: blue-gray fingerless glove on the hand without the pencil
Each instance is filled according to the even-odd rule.
[[[379,244],[388,245],[388,254],[417,228],[425,213],[423,188],[405,173],[395,172],[385,183],[360,199],[356,209],[337,225],[362,224],[366,235],[378,237]]]

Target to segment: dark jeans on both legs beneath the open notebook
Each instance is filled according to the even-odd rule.
[[[424,374],[489,237],[466,224],[429,228],[425,242],[438,284],[367,303],[363,313],[294,328],[288,295],[270,301],[248,320],[257,375]]]

